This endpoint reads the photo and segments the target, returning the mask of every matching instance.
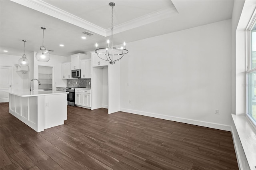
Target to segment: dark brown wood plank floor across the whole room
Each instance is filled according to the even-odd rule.
[[[0,103],[1,170],[238,170],[231,133],[68,106],[64,125],[35,132]]]

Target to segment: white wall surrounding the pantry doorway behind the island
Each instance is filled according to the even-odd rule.
[[[36,52],[34,52],[34,56],[36,55]],[[50,60],[48,62],[42,62],[34,60],[34,78],[38,79],[38,65],[43,66],[52,66],[54,67],[54,73],[53,73],[53,89],[55,90],[56,87],[66,87],[66,79],[61,78],[61,63],[64,63],[66,61],[70,61],[70,57],[63,57],[60,55],[53,55],[50,54]],[[34,81],[34,89],[38,89],[38,82]]]

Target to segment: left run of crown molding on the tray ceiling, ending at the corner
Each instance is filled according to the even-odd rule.
[[[32,8],[33,10],[37,10],[49,16],[53,16],[54,18],[58,18],[70,24],[74,24],[75,26],[79,26],[90,32],[94,32],[101,36],[106,36],[105,29],[99,26],[96,26],[95,24],[92,24],[86,20],[83,20],[82,18],[79,18],[73,14],[70,14],[64,10],[61,10],[60,8],[56,8],[55,6],[52,6],[42,0],[11,0],[11,1],[16,2],[20,5],[26,6],[28,8]]]

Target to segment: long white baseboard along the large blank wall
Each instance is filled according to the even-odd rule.
[[[191,125],[198,125],[198,126],[202,126],[202,127],[216,128],[216,129],[226,130],[226,131],[231,132],[231,126],[218,124],[218,123],[198,121],[198,120],[193,120],[193,119],[185,119],[185,118],[181,118],[181,117],[173,117],[173,116],[167,116],[167,115],[160,115],[160,114],[156,114],[156,113],[142,112],[142,111],[136,111],[136,110],[131,110],[131,109],[125,109],[125,108],[120,108],[120,111],[132,113],[132,114],[136,114],[136,115],[154,117],[154,118],[158,118],[158,119],[165,119],[168,121],[176,121],[176,122],[181,122],[181,123],[188,123]]]

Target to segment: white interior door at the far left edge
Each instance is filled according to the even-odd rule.
[[[9,93],[12,89],[12,67],[0,66],[0,102],[9,101]]]

